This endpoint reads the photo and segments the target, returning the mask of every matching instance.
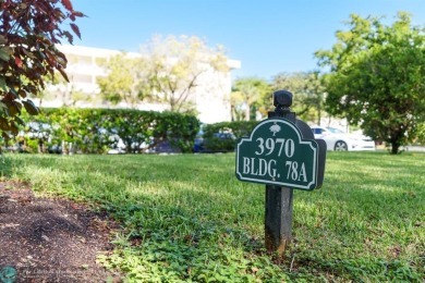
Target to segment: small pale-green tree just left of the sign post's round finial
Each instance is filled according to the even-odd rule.
[[[257,77],[235,79],[231,93],[233,120],[255,120],[256,110],[262,115],[266,115],[267,109],[270,109],[270,106],[272,106],[272,102],[264,103],[264,97],[266,96],[269,96],[269,101],[272,101],[271,89],[266,81]]]

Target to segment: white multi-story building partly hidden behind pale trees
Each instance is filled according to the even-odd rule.
[[[116,107],[127,108],[130,106],[121,102],[112,106],[100,99],[100,88],[97,78],[106,76],[106,70],[100,66],[100,62],[120,53],[118,50],[90,48],[82,46],[58,46],[68,59],[66,74],[69,84],[59,84],[51,86],[47,96],[42,100],[44,107],[61,107],[69,104],[72,93],[86,95],[90,100],[80,100],[75,102],[77,107]],[[141,57],[141,53],[126,53],[130,57]],[[219,72],[210,69],[204,72],[197,81],[196,88],[189,98],[195,104],[198,112],[198,119],[203,123],[216,123],[231,120],[230,93],[231,93],[231,70],[239,69],[241,62],[228,60],[229,72]],[[166,104],[141,102],[136,106],[141,110],[167,110]]]

